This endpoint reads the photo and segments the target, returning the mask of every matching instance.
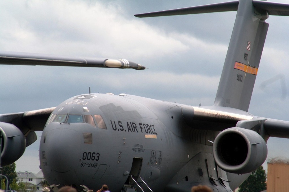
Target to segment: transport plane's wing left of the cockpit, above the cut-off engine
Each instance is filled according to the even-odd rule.
[[[20,113],[0,114],[0,122],[15,125],[24,134],[26,147],[36,141],[35,131],[42,131],[55,107]]]

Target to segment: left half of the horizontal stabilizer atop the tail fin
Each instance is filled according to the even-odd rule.
[[[230,1],[225,3],[214,3],[209,5],[200,5],[194,7],[185,7],[179,9],[170,9],[165,11],[157,11],[143,14],[136,14],[136,17],[160,17],[160,16],[172,16],[172,15],[188,15],[199,13],[214,13],[214,12],[227,12],[237,11],[239,1]]]

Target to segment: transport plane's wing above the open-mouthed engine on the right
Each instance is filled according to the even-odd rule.
[[[190,127],[198,129],[223,131],[231,127],[241,127],[255,130],[263,137],[289,138],[289,121],[257,117],[238,109],[184,105],[182,115]]]

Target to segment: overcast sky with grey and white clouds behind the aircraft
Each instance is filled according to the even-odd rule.
[[[1,0],[0,51],[125,58],[149,69],[0,66],[0,113],[55,107],[88,92],[126,93],[212,105],[236,12],[136,18],[134,14],[223,2]],[[285,0],[278,0],[285,3]],[[270,24],[249,112],[289,120],[289,18]],[[38,142],[16,161],[37,173]],[[268,158],[289,157],[289,140],[270,138]]]

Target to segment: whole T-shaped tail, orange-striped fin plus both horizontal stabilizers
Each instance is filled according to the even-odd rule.
[[[237,11],[214,106],[248,111],[266,39],[269,15],[289,16],[289,5],[240,0],[151,12],[136,17],[156,17]]]

